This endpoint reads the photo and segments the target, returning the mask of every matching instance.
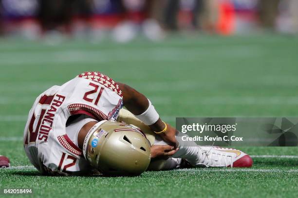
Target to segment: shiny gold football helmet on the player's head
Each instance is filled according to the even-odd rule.
[[[121,122],[102,122],[94,126],[97,128],[89,134],[88,143],[84,145],[85,157],[91,165],[105,175],[144,172],[150,163],[150,143],[145,134]]]

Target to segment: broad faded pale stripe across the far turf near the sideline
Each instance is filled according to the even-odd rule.
[[[251,58],[261,57],[260,47],[239,47],[229,49],[212,49],[212,55],[215,53],[218,57],[229,59],[232,57]],[[117,54],[117,56],[114,56]],[[135,56],[137,54],[137,56]],[[183,48],[147,48],[140,49],[100,49],[85,50],[63,49],[55,51],[19,51],[19,52],[1,52],[1,64],[22,65],[42,64],[42,63],[111,63],[114,61],[198,61],[202,57],[210,56],[210,53],[204,49],[185,50]],[[4,58],[5,57],[5,58]],[[16,58],[17,57],[17,58]],[[38,58],[37,58],[38,57]]]

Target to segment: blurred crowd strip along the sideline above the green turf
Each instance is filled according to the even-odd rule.
[[[298,0],[0,0],[0,35],[153,41],[168,33],[298,33]]]

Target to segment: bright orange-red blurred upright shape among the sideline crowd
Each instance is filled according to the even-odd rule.
[[[219,3],[219,21],[217,30],[220,34],[231,35],[235,30],[235,9],[231,0],[221,0]]]

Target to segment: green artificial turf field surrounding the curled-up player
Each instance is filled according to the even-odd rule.
[[[92,70],[144,93],[172,125],[181,116],[298,116],[297,51],[297,37],[280,35],[173,36],[123,45],[2,39],[0,155],[9,157],[12,168],[0,169],[0,197],[7,188],[30,188],[28,197],[53,198],[298,197],[298,148],[241,148],[253,155],[251,169],[192,168],[109,178],[41,176],[22,145],[35,98]]]

